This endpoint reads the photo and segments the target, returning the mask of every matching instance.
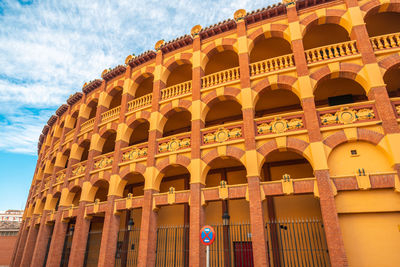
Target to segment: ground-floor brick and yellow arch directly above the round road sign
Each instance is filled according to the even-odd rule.
[[[201,157],[202,161],[205,163],[205,166],[201,172],[201,182],[202,183],[206,183],[206,177],[207,177],[207,173],[210,170],[211,166],[210,164],[221,157],[230,157],[233,158],[237,161],[239,161],[245,168],[246,167],[246,162],[244,159],[244,155],[245,155],[245,151],[234,147],[234,146],[226,146],[226,150],[224,150],[224,152],[220,152],[218,151],[217,148],[214,148],[213,150],[207,152],[207,154],[205,154],[204,156]],[[246,170],[247,172],[247,170]]]

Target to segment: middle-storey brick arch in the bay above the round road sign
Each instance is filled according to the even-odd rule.
[[[201,110],[201,119],[205,121],[206,116],[210,108],[221,101],[224,100],[234,100],[240,105],[242,105],[242,101],[239,98],[241,90],[236,87],[223,87],[222,90],[212,90],[210,93],[208,93],[205,96],[202,96],[202,102],[204,103],[204,106]]]

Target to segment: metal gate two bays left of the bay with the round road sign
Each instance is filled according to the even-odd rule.
[[[116,267],[137,266],[139,252],[140,227],[118,232]]]

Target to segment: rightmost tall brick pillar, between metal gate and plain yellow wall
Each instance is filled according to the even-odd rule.
[[[336,211],[336,203],[332,192],[328,170],[316,170],[318,190],[320,195],[321,214],[329,250],[331,266],[347,266],[343,237]]]

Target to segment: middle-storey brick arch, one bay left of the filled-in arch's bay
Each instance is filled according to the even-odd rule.
[[[254,106],[260,97],[260,93],[264,90],[285,89],[293,92],[300,99],[301,93],[300,89],[296,86],[296,82],[297,78],[289,75],[278,75],[278,79],[276,80],[270,80],[269,77],[261,80],[252,86],[252,90],[257,93],[253,100]]]

